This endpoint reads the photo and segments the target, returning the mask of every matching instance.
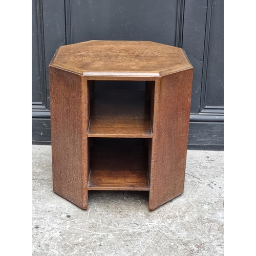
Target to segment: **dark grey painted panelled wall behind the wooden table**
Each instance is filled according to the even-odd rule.
[[[188,148],[223,150],[220,0],[33,0],[33,143],[51,141],[48,65],[55,51],[93,39],[150,40],[183,48],[194,66]]]

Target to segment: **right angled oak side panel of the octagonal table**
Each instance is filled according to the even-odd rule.
[[[155,83],[149,209],[184,190],[193,69]]]

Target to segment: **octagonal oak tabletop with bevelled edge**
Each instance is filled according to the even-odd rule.
[[[50,66],[88,76],[88,79],[153,78],[192,68],[181,48],[151,41],[118,40],[92,40],[61,46]]]

